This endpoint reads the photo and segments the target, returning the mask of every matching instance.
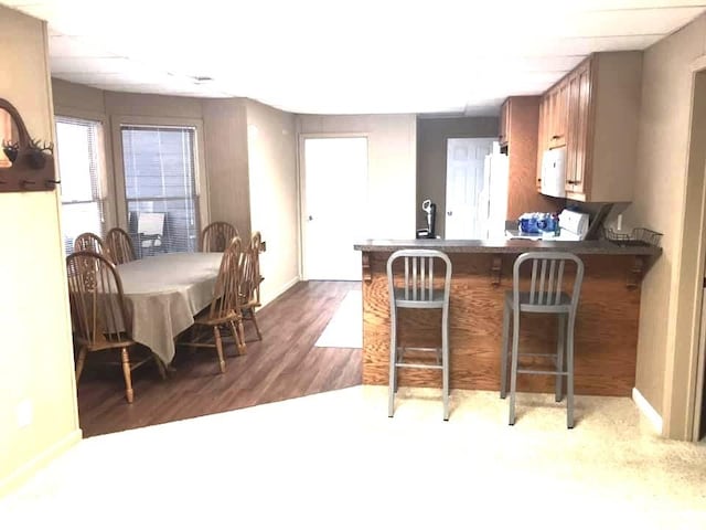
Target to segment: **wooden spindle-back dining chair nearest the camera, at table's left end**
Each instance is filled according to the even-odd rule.
[[[132,321],[115,265],[105,256],[79,251],[66,257],[66,273],[72,326],[78,346],[76,385],[87,353],[120,350],[125,396],[128,403],[132,403],[132,370],[153,359],[162,379],[167,375],[162,362],[156,356],[138,361],[130,359],[129,348],[136,344],[131,333]]]

